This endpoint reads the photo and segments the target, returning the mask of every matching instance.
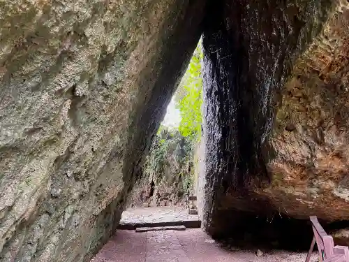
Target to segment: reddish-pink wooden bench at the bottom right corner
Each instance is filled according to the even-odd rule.
[[[320,255],[320,260],[323,262],[349,262],[349,249],[343,246],[334,246],[333,238],[327,235],[324,228],[320,225],[317,217],[310,217],[311,226],[313,227],[313,241],[306,256],[306,262],[310,261],[311,254],[316,245]]]

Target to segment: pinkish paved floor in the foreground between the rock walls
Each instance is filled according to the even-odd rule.
[[[136,233],[119,230],[91,262],[304,262],[306,253],[229,249],[200,228]],[[318,260],[315,254],[311,261]]]

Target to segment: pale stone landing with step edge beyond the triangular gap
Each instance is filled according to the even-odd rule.
[[[197,214],[188,214],[182,207],[132,208],[122,213],[119,229],[132,230],[137,227],[181,226],[200,228]]]

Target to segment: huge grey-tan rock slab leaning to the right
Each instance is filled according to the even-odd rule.
[[[0,261],[89,261],[114,233],[205,1],[0,6]]]

